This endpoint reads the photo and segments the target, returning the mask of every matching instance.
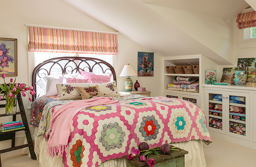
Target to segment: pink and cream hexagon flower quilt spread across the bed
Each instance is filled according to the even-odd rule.
[[[46,123],[39,126],[45,129],[38,135],[49,134],[50,117],[61,105],[61,101],[45,105],[40,124]],[[167,97],[120,100],[89,107],[75,115],[63,163],[65,167],[97,167],[106,160],[128,155],[140,142],[146,141],[151,148],[190,140],[211,142],[206,118],[197,105]]]

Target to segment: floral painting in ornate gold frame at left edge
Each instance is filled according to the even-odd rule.
[[[17,39],[0,38],[0,75],[17,76]]]

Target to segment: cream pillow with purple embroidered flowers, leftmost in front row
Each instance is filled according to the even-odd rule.
[[[82,99],[80,93],[76,90],[76,86],[89,86],[91,84],[85,83],[58,83],[56,84],[59,100],[74,100]]]

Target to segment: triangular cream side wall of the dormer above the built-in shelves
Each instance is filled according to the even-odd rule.
[[[226,59],[230,64],[233,63],[232,20],[185,10],[146,5]],[[205,56],[207,57],[208,55]]]

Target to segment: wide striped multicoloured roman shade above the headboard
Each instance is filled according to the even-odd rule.
[[[117,54],[117,34],[29,28],[29,52]]]

